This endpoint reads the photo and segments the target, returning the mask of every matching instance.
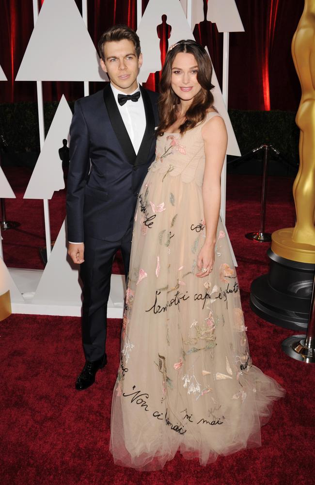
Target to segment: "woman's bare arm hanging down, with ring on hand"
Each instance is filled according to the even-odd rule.
[[[211,118],[202,128],[205,141],[205,174],[203,201],[205,214],[205,243],[198,255],[198,277],[207,276],[214,263],[214,248],[221,204],[221,171],[227,147],[227,132],[220,116]],[[205,268],[208,271],[202,272]]]

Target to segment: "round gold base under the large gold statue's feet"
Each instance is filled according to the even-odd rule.
[[[314,244],[295,242],[293,241],[293,231],[294,228],[289,227],[273,232],[271,250],[285,259],[315,264],[315,241]]]

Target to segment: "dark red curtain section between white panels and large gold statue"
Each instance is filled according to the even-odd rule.
[[[291,41],[304,0],[236,0],[245,32],[230,34],[229,107],[296,111]]]

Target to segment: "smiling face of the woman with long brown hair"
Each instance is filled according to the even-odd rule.
[[[171,86],[174,93],[183,101],[191,100],[201,90],[197,81],[198,65],[192,54],[179,52],[172,65]]]

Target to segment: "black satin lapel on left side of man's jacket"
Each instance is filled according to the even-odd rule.
[[[136,160],[136,152],[129,138],[125,124],[123,122],[123,118],[119,113],[119,109],[117,107],[117,103],[115,101],[114,94],[111,90],[110,84],[108,84],[108,86],[104,88],[103,93],[104,93],[104,101],[110,118],[111,126],[126,155],[127,162],[133,165]]]

